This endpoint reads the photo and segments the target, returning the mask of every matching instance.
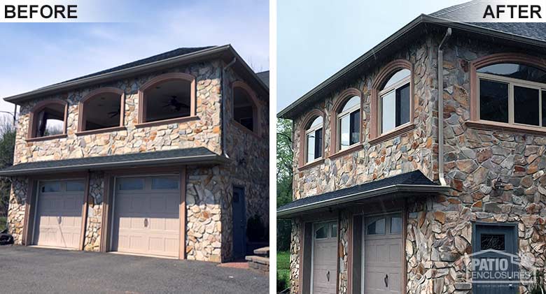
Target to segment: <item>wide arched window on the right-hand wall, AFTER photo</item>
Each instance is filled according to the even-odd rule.
[[[503,62],[476,69],[479,119],[546,126],[546,71]]]

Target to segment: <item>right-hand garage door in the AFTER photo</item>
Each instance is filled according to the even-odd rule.
[[[401,293],[402,217],[377,216],[365,225],[364,293]]]

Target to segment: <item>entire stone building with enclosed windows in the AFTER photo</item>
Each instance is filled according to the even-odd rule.
[[[475,3],[416,17],[279,112],[292,293],[528,293],[512,274],[544,270],[546,25],[459,22]]]

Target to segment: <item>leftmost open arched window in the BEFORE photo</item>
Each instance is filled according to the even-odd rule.
[[[68,104],[61,100],[41,101],[30,111],[28,138],[45,138],[66,133]]]

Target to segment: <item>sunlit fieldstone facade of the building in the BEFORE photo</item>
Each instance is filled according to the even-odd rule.
[[[233,185],[246,188],[247,217],[254,214],[268,221],[268,147],[269,97],[258,96],[262,103],[263,133],[258,136],[232,126],[230,84],[244,81],[235,72],[223,74],[224,61],[201,61],[164,71],[76,89],[55,96],[37,98],[20,107],[15,141],[14,164],[34,161],[75,159],[168,149],[206,147],[233,160],[222,166],[186,167],[186,258],[221,262],[232,258],[231,195]],[[196,117],[184,122],[138,126],[139,88],[165,73],[188,73],[196,80]],[[223,79],[224,77],[224,79]],[[79,102],[90,91],[116,87],[125,92],[125,129],[94,134],[76,134]],[[48,99],[68,102],[66,138],[27,142],[30,111]],[[244,144],[243,144],[244,142]],[[258,156],[265,156],[258,159]],[[237,159],[246,158],[243,166]],[[233,172],[237,172],[237,175]],[[102,236],[104,172],[89,175],[84,250],[99,251]],[[23,219],[28,180],[14,179],[8,212],[9,230],[16,244],[22,243]]]

